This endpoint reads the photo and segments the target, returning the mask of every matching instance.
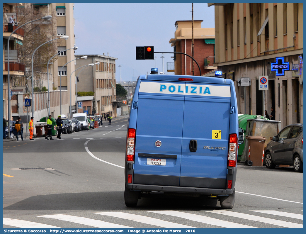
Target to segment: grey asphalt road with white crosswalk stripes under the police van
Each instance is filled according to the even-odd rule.
[[[231,210],[221,209],[219,202],[203,206],[198,198],[159,193],[127,208],[122,168],[127,121],[118,117],[111,126],[103,122],[95,130],[63,134],[61,140],[4,142],[3,227],[303,227],[303,173],[293,167],[238,163]]]

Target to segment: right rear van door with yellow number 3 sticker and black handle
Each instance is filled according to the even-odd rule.
[[[185,90],[180,186],[225,189],[230,86],[186,83]]]

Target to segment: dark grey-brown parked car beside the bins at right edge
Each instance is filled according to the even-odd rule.
[[[303,172],[303,124],[285,126],[268,143],[264,163],[267,168],[276,165],[293,166],[294,171]]]

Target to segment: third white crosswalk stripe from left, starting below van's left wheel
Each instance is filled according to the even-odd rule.
[[[147,216],[142,216],[142,215],[137,215],[137,214],[130,214],[130,213],[123,213],[123,212],[101,212],[101,213],[94,213],[94,214],[101,214],[101,215],[107,215],[111,217],[117,217],[121,219],[128,219],[144,224],[150,224],[150,225],[155,225],[163,228],[195,228],[195,227],[190,227],[178,223],[172,223],[160,219],[155,219]]]

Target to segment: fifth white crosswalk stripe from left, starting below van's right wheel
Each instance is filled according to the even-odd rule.
[[[256,215],[238,213],[238,212],[233,212],[233,211],[228,211],[228,210],[212,210],[212,211],[204,210],[204,211],[209,212],[209,213],[223,214],[223,215],[228,215],[230,217],[237,217],[237,218],[277,225],[277,226],[281,226],[285,228],[303,228],[303,224],[296,224],[296,223],[286,222],[282,220],[270,219],[270,218],[260,217]]]

